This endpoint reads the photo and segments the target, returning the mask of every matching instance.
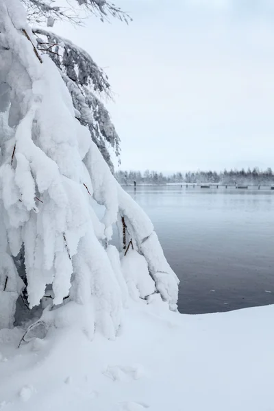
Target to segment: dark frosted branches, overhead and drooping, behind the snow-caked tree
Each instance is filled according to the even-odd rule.
[[[66,20],[73,24],[81,22],[81,10],[99,15],[101,20],[108,16],[118,17],[128,21],[129,16],[120,8],[105,0],[21,0],[27,8],[27,18],[30,23],[47,24],[53,27],[56,20]],[[65,5],[65,6],[64,6]],[[77,7],[78,5],[78,7]],[[81,7],[79,7],[81,5]],[[101,101],[101,95],[110,97],[110,83],[102,69],[92,60],[90,55],[70,40],[62,38],[45,28],[33,29],[38,41],[38,49],[48,53],[62,73],[62,78],[73,97],[75,116],[88,125],[90,135],[103,158],[108,162],[112,172],[114,167],[108,147],[119,159],[119,136],[110,119],[108,110]]]

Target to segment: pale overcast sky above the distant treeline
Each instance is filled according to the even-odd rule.
[[[110,78],[121,169],[274,169],[274,1],[117,0],[62,25]]]

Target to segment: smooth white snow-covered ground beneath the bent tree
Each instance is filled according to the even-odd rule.
[[[114,341],[77,325],[17,348],[0,331],[5,411],[273,411],[274,306],[188,316],[131,301]]]

